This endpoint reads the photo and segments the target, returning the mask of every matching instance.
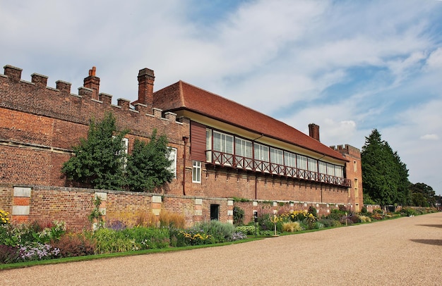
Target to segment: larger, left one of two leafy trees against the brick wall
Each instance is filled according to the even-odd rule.
[[[126,185],[122,139],[128,132],[117,130],[112,113],[106,113],[99,123],[92,118],[88,138],[81,138],[80,144],[73,147],[74,156],[64,163],[61,172],[68,180],[87,183],[95,189],[121,190]]]

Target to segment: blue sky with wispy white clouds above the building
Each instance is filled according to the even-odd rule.
[[[0,65],[112,101],[183,80],[362,149],[381,133],[412,183],[442,194],[442,1],[0,0]],[[1,72],[3,73],[3,72]]]

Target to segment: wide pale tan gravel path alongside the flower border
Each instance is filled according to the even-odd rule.
[[[442,285],[442,213],[0,271],[0,285]]]

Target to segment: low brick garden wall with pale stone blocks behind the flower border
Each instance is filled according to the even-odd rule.
[[[18,192],[25,189],[28,192]],[[88,216],[94,209],[94,198],[100,196],[100,211],[107,223],[121,221],[136,225],[145,218],[158,216],[162,210],[181,213],[188,226],[210,220],[210,205],[219,206],[219,219],[233,220],[232,200],[158,195],[145,192],[119,192],[74,187],[25,185],[0,187],[0,209],[11,213],[13,222],[38,221],[46,224],[54,220],[66,222],[73,231],[92,228]],[[231,201],[231,204],[228,202]]]

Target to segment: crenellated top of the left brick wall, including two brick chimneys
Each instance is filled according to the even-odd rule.
[[[69,102],[80,108],[83,106],[94,106],[97,109],[114,110],[118,112],[139,113],[142,116],[149,116],[161,118],[170,123],[177,122],[175,113],[165,113],[165,117],[160,109],[153,106],[153,70],[144,68],[140,70],[138,75],[138,100],[131,103],[129,99],[117,99],[117,105],[112,104],[112,95],[100,93],[100,78],[95,75],[96,68],[92,67],[89,70],[88,77],[84,79],[83,87],[78,87],[78,94],[71,93],[71,82],[63,80],[56,81],[56,87],[47,86],[47,75],[40,75],[32,73],[31,82],[21,79],[22,69],[14,66],[4,66],[4,75],[0,75],[0,81],[4,82],[2,85],[5,91],[0,89],[2,99],[5,99],[7,106],[1,104],[2,107],[7,108],[23,108],[28,110],[32,106],[44,106],[48,104],[51,106],[64,106]],[[8,87],[6,87],[8,86]],[[19,90],[20,92],[13,92]],[[17,97],[17,94],[23,94],[22,98]],[[6,98],[5,98],[6,97]],[[101,105],[101,106],[100,106]],[[48,108],[46,108],[48,109]],[[49,108],[51,109],[51,108]]]

